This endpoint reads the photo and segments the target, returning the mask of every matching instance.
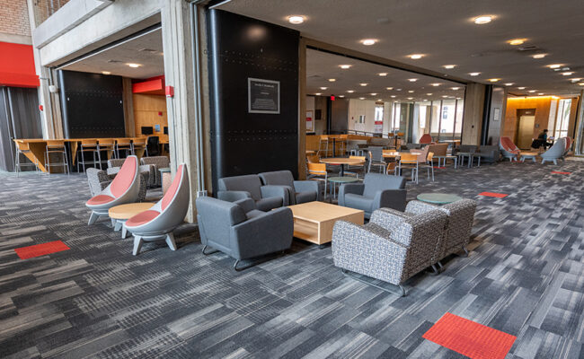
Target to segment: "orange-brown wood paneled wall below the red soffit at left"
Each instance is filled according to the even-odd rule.
[[[168,126],[166,98],[162,95],[134,93],[134,127],[136,136],[141,135],[142,127],[153,127],[154,136],[164,136],[164,127]],[[160,125],[160,131],[156,131]]]

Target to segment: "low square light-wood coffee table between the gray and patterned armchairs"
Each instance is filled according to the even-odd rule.
[[[362,225],[365,215],[360,209],[316,201],[288,208],[294,215],[294,236],[319,245],[332,241],[335,222],[343,220]]]

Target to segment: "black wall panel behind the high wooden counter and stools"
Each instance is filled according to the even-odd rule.
[[[124,137],[120,76],[58,72],[65,138]]]

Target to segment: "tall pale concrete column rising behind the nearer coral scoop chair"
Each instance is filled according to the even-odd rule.
[[[190,6],[182,0],[161,1],[166,86],[173,86],[174,96],[166,98],[171,167],[186,163],[190,180],[190,208],[187,221],[194,222],[199,187],[197,167],[195,85],[193,81],[193,48],[190,45]]]

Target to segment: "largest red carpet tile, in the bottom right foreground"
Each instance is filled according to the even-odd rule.
[[[503,359],[517,337],[446,313],[422,336],[472,359]]]

